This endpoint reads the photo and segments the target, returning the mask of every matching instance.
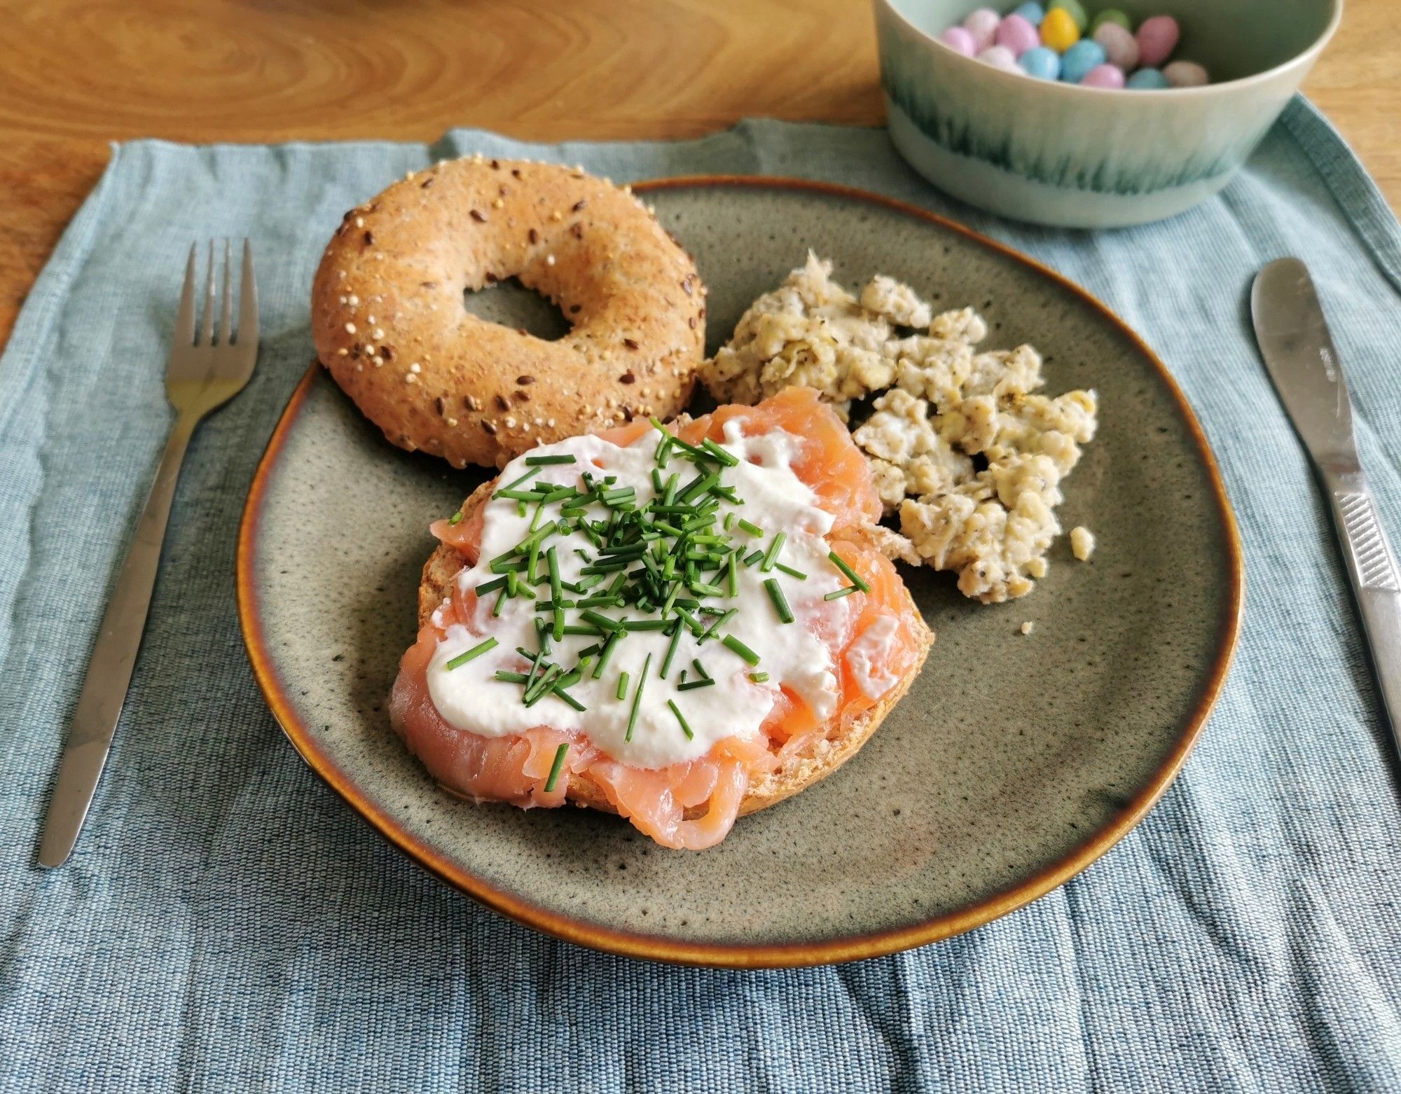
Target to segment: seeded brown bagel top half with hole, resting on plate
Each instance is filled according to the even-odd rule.
[[[573,329],[486,322],[462,294],[517,277]],[[629,191],[577,168],[453,160],[346,213],[312,284],[317,356],[401,448],[502,466],[691,398],[705,345],[691,256]]]

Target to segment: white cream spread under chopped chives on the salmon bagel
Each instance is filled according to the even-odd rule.
[[[493,581],[499,586],[499,579],[514,565],[518,593],[504,595],[507,590],[497,587],[479,594],[471,629],[454,625],[439,644],[427,682],[433,703],[448,724],[483,737],[520,734],[537,726],[576,730],[616,761],[636,768],[663,768],[703,756],[720,740],[757,733],[780,700],[783,688],[811,706],[818,719],[835,713],[836,668],[822,635],[845,633],[860,598],[841,594],[852,580],[829,558],[831,549],[822,539],[832,527],[832,515],[815,504],[813,490],[794,473],[800,440],[790,433],[773,430],[745,437],[737,422],[727,423],[724,440],[717,447],[734,462],[717,466],[715,489],[696,496],[706,499],[702,515],[712,515],[713,524],[684,538],[658,535],[646,545],[649,565],[657,566],[664,563],[665,553],[678,549],[700,555],[708,549],[733,552],[733,560],[717,570],[705,570],[702,563],[695,579],[702,590],[709,586],[717,591],[696,593],[695,581],[681,581],[681,600],[689,598],[693,605],[682,611],[695,628],[668,622],[678,615],[672,609],[672,615],[663,618],[664,605],[591,604],[608,595],[608,590],[622,580],[619,574],[629,569],[640,572],[642,567],[633,565],[642,562],[640,555],[630,556],[626,567],[600,573],[600,565],[616,559],[628,548],[621,548],[619,555],[604,553],[602,548],[609,545],[605,542],[601,548],[597,542],[600,525],[593,525],[593,536],[580,527],[586,521],[580,515],[581,503],[573,497],[545,501],[548,494],[541,494],[539,485],[595,494],[630,489],[635,494],[623,507],[646,510],[651,503],[650,520],[684,522],[685,513],[654,511],[667,501],[658,497],[658,483],[677,473],[682,483],[695,482],[705,478],[706,466],[715,465],[702,464],[698,473],[696,465],[672,455],[667,466],[658,469],[660,440],[657,431],[628,447],[593,436],[572,437],[537,447],[502,472],[499,482],[504,486],[485,503],[479,560],[458,574],[457,584],[461,593]],[[510,489],[525,476],[530,479],[520,490]],[[535,493],[530,503],[510,496],[521,492]],[[665,487],[660,493],[665,494]],[[675,485],[671,493],[678,493]],[[594,504],[587,520],[607,517],[608,508]],[[541,650],[537,621],[545,621],[546,632],[552,632],[555,602],[552,584],[528,583],[521,573],[524,555],[513,558],[511,552],[527,542],[532,531],[562,520],[565,528],[541,539],[538,553],[553,548],[562,601],[570,602],[563,614],[567,633],[559,637],[551,633],[545,642],[548,653],[539,656],[548,656],[552,665],[563,670],[581,667],[584,671],[573,679],[574,674],[560,677],[569,681],[563,695],[546,691],[527,706],[524,696],[530,693],[530,684],[538,682],[538,674],[531,679],[532,663],[520,650],[531,657]],[[720,541],[719,546],[703,541],[708,532]],[[696,538],[702,538],[700,546]],[[635,551],[636,546],[633,543]],[[741,559],[752,559],[755,552],[762,552],[764,558],[750,563]],[[684,558],[674,558],[671,563],[678,574],[685,573],[684,565]],[[546,570],[541,555],[537,577]],[[792,622],[783,622],[785,612],[792,615]],[[600,618],[615,628],[632,623],[637,629],[614,632],[590,623]],[[614,633],[618,637],[605,654],[604,647]],[[867,693],[888,686],[880,667],[883,650],[894,633],[894,619],[890,626],[876,623],[848,657]],[[481,649],[489,639],[496,644]],[[474,650],[478,653],[464,658]],[[752,657],[757,664],[751,664]],[[598,671],[601,658],[605,664]],[[699,684],[706,678],[713,684]]]

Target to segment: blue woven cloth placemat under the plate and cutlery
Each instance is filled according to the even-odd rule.
[[[233,597],[240,504],[311,356],[340,213],[482,150],[614,179],[835,179],[948,213],[1084,284],[1173,368],[1220,458],[1250,574],[1224,695],[1105,859],[951,941],[758,974],[558,943],[370,835],[286,745]],[[73,860],[34,864],[78,665],[170,415],[189,241],[249,235],[258,375],[199,431],[108,776]],[[1401,231],[1306,102],[1220,196],[1111,234],[957,206],[881,130],[747,122],[677,144],[179,147],[112,164],[0,359],[0,1090],[1401,1088],[1398,766],[1316,490],[1248,332],[1304,258],[1379,506],[1401,538]]]

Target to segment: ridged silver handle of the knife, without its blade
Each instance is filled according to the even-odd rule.
[[[1325,471],[1332,520],[1358,597],[1391,738],[1401,754],[1401,577],[1360,471]]]

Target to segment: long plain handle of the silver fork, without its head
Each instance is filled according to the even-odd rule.
[[[116,720],[122,714],[126,689],[132,682],[136,651],[142,644],[146,614],[151,607],[156,570],[161,560],[165,524],[175,496],[175,483],[185,459],[185,448],[196,420],[182,415],[175,422],[160,469],[146,497],[146,508],[136,525],[136,536],[126,551],[112,598],[102,616],[92,658],[88,661],[83,692],[78,696],[69,740],[63,747],[59,780],[49,800],[39,843],[41,866],[62,866],[77,842],[92,793],[102,776]]]

